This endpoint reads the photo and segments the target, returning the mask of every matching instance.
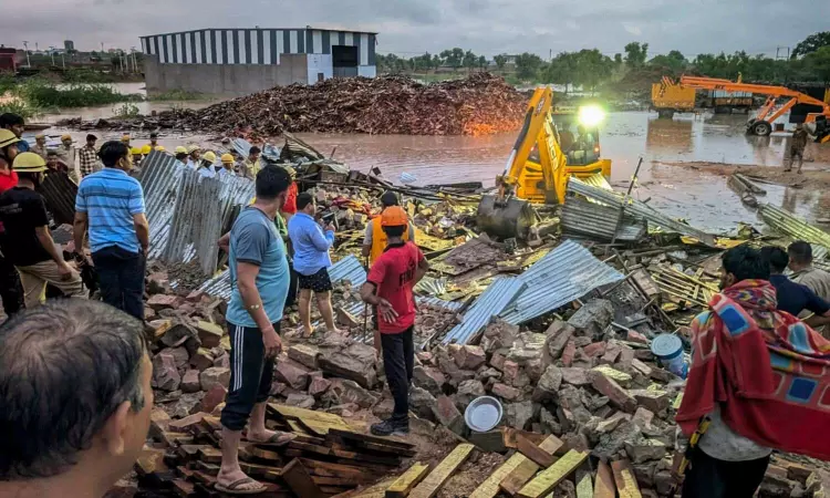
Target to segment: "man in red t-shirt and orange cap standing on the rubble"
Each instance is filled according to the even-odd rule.
[[[388,243],[372,264],[366,283],[361,288],[361,298],[377,307],[375,349],[378,352],[383,349],[386,382],[395,400],[392,417],[372,425],[372,434],[390,436],[409,433],[409,383],[415,362],[413,289],[424,278],[429,264],[417,246],[403,239],[408,219],[401,206],[391,206],[383,211],[381,228]]]

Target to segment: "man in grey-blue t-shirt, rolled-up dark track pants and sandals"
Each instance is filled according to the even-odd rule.
[[[239,442],[249,418],[250,442],[281,445],[294,438],[266,428],[266,402],[274,357],[282,351],[279,328],[291,280],[286,245],[273,220],[286,201],[291,178],[283,168],[267,166],[255,181],[257,200],[219,240],[230,257],[231,294],[226,319],[231,349],[230,385],[221,414],[222,463],[216,489],[235,495],[266,489],[239,467]]]

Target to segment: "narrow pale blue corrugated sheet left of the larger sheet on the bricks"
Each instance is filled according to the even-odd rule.
[[[481,328],[497,317],[525,290],[526,283],[519,277],[502,277],[492,281],[464,314],[461,323],[444,336],[444,344],[466,344]]]

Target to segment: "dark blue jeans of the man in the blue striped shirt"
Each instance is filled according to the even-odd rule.
[[[92,253],[104,302],[144,321],[144,255],[110,246]]]

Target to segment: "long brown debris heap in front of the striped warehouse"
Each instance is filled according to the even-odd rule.
[[[424,85],[412,79],[332,79],[314,85],[277,86],[209,107],[154,116],[59,126],[175,128],[268,137],[283,132],[402,135],[485,135],[516,131],[526,97],[501,77],[476,73],[465,80]]]

